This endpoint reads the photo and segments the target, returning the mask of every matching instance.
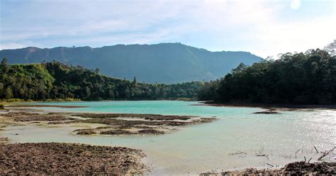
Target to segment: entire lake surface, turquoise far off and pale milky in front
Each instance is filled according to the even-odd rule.
[[[38,103],[41,104],[41,103]],[[153,175],[196,174],[208,170],[280,167],[294,160],[313,158],[313,146],[327,150],[336,145],[336,111],[280,111],[252,114],[259,108],[193,106],[192,101],[96,101],[43,103],[87,108],[38,108],[45,111],[138,113],[215,116],[213,123],[188,126],[162,136],[73,136],[75,127],[9,126],[1,135],[11,142],[73,142],[121,145],[144,150]],[[15,135],[18,133],[19,135]],[[297,154],[296,151],[301,149]],[[231,155],[242,151],[247,154]],[[262,153],[267,156],[257,156]],[[296,155],[296,156],[295,156]],[[329,158],[326,158],[329,159]],[[330,158],[334,160],[335,158]]]

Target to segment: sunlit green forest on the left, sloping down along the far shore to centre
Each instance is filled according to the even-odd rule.
[[[0,99],[195,99],[201,82],[146,84],[60,62],[0,66]]]

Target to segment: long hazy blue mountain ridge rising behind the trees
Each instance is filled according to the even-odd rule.
[[[112,45],[102,48],[35,48],[0,50],[0,58],[10,64],[51,62],[58,60],[70,65],[99,68],[112,77],[142,82],[176,83],[211,80],[223,77],[240,62],[251,65],[262,60],[247,52],[211,52],[181,43],[155,45]]]

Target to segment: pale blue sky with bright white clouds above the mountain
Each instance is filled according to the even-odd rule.
[[[336,39],[336,0],[0,0],[0,50],[183,43],[261,57]]]

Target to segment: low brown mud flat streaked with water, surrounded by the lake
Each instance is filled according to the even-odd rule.
[[[6,113],[0,114],[0,120],[3,123],[16,125],[31,123],[45,126],[86,124],[90,128],[78,128],[72,133],[76,135],[134,136],[161,135],[177,131],[183,126],[208,123],[215,119],[159,114],[45,113],[8,109]]]

